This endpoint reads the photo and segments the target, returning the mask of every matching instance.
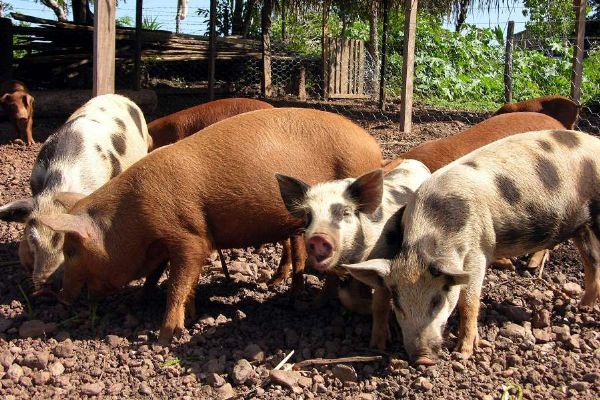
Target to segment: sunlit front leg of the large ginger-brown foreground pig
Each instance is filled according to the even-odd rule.
[[[186,306],[210,253],[210,246],[198,237],[176,244],[173,251],[169,251],[173,256],[169,267],[167,307],[158,337],[160,343],[168,344],[173,335],[179,335],[185,329]]]

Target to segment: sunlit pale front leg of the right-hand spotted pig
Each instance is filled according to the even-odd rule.
[[[485,261],[481,265],[466,268],[471,273],[470,281],[460,292],[458,309],[460,312],[460,326],[458,331],[458,344],[456,350],[465,358],[473,354],[473,348],[479,344],[479,331],[477,330],[477,317],[481,305],[481,286],[485,275]]]

